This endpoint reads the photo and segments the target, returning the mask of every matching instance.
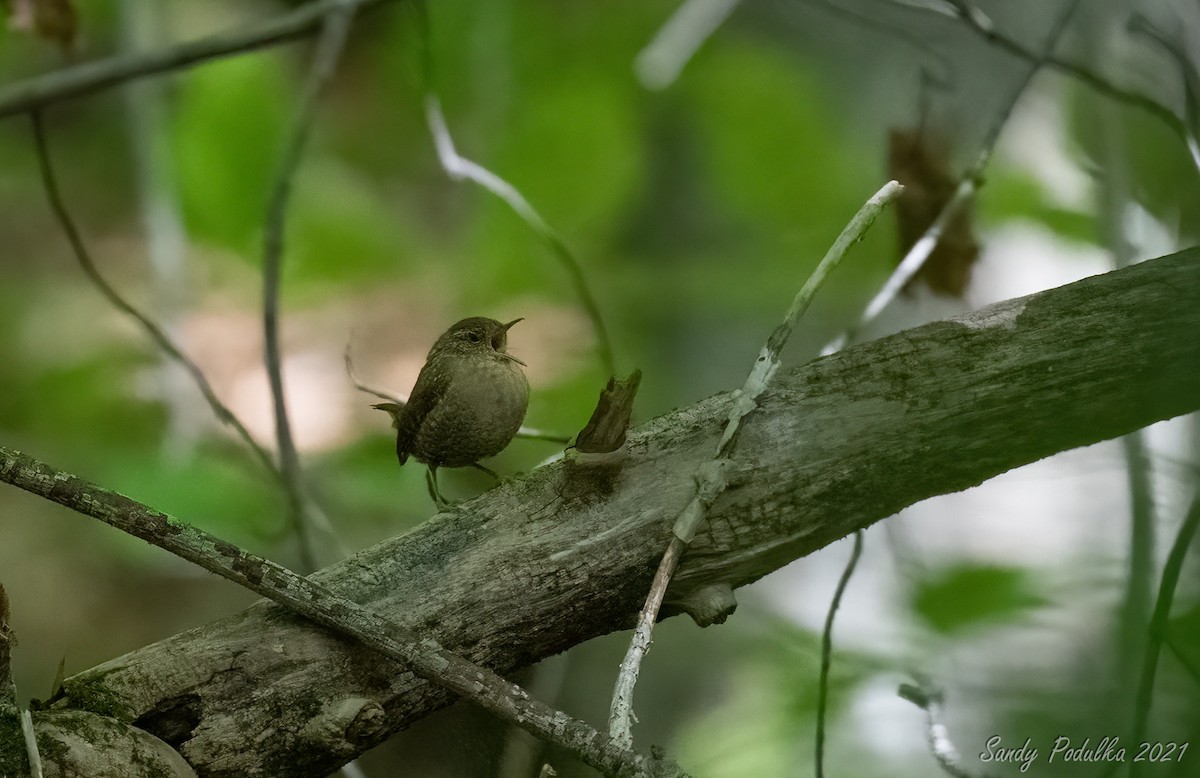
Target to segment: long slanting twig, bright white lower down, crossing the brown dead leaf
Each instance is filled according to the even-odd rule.
[[[1079,0],[1072,0],[1067,6],[1067,10],[1058,17],[1055,22],[1055,26],[1050,31],[1050,36],[1046,40],[1045,47],[1040,55],[1033,55],[1033,66],[1026,71],[1025,76],[1021,78],[1020,83],[1013,90],[1012,96],[1008,102],[1004,103],[1004,108],[996,115],[996,120],[992,121],[991,126],[988,128],[988,134],[984,137],[983,144],[979,146],[979,154],[976,157],[974,164],[972,164],[959,179],[959,185],[954,190],[954,194],[950,199],[942,207],[941,213],[934,220],[934,223],[929,226],[929,229],[912,245],[908,252],[905,255],[900,264],[896,265],[892,275],[884,282],[883,287],[871,298],[871,301],[866,304],[866,309],[858,317],[858,321],[846,329],[845,333],[835,337],[834,340],[826,343],[824,348],[821,349],[822,357],[828,357],[834,352],[839,352],[847,345],[854,342],[859,335],[878,318],[887,307],[893,303],[893,300],[899,297],[900,292],[912,281],[920,269],[924,267],[925,262],[929,259],[930,255],[934,253],[934,249],[941,241],[942,235],[946,229],[953,222],[959,211],[974,197],[974,193],[983,185],[983,173],[988,168],[988,163],[991,162],[991,155],[996,149],[996,142],[1000,139],[1000,133],[1003,131],[1004,125],[1008,124],[1009,116],[1013,115],[1013,110],[1016,108],[1016,103],[1020,102],[1021,95],[1028,89],[1030,83],[1033,77],[1037,76],[1038,71],[1045,65],[1050,64],[1051,56],[1054,54],[1055,47],[1058,44],[1058,40],[1062,37],[1063,31],[1067,28],[1067,23],[1075,12],[1075,7],[1079,5]],[[970,14],[968,14],[970,17]]]

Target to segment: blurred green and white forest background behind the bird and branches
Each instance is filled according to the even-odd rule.
[[[78,2],[66,46],[23,29],[24,5],[10,0],[0,32],[5,84],[299,4]],[[900,172],[953,188],[1001,122],[959,251],[864,337],[1196,241],[1200,168],[1178,127],[1084,83],[1126,90],[1186,126],[1200,104],[1194,2],[1080,4],[1056,52],[1084,78],[1044,68],[1007,121],[1030,54],[1066,4],[971,6],[982,16],[937,0],[688,5],[440,0],[427,8],[427,34],[407,4],[360,16],[295,179],[282,286],[301,461],[348,547],[433,513],[424,471],[397,468],[390,420],[347,378],[348,346],[362,381],[404,395],[450,323],[524,317],[510,349],[529,365],[527,424],[565,435],[583,426],[608,377],[566,269],[508,205],[439,166],[427,79],[458,151],[520,188],[578,258],[618,371],[644,372],[635,423],[739,387],[859,205]],[[701,24],[665,34],[677,12]],[[311,52],[307,41],[277,46],[46,113],[64,197],[101,271],[269,448],[263,225]],[[917,138],[918,151],[898,152],[896,133]],[[853,250],[788,364],[854,322],[901,256],[906,227],[887,213]],[[872,527],[835,627],[828,773],[936,774],[924,714],[896,695],[919,672],[944,690],[949,734],[977,773],[1021,774],[1019,764],[979,764],[1000,736],[1039,748],[1026,774],[1126,774],[1128,765],[1045,760],[1058,736],[1129,746],[1148,612],[1195,489],[1198,439],[1189,419],[1159,424]],[[275,481],[82,273],[47,207],[23,116],[0,121],[0,443],[298,563]],[[491,466],[529,469],[560,448],[516,441]],[[488,485],[458,472],[442,483],[457,497]],[[838,543],[739,591],[722,627],[664,622],[637,690],[638,743],[661,744],[708,778],[812,774],[820,630],[848,553],[848,540]],[[70,675],[252,600],[8,487],[0,582],[23,699],[48,696],[60,662]],[[1170,624],[1147,737],[1190,742],[1193,753],[1144,770],[1195,776],[1194,558]],[[601,723],[628,638],[578,646],[523,681]],[[559,776],[595,774],[456,706],[359,765],[372,778],[515,778],[546,760]]]

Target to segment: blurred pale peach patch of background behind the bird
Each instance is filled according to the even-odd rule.
[[[293,436],[302,450],[329,450],[390,421],[370,406],[343,369],[349,343],[359,378],[404,397],[416,382],[430,346],[458,318],[469,315],[516,318],[509,348],[528,365],[534,391],[587,367],[594,342],[587,319],[575,311],[532,299],[496,311],[450,312],[432,289],[379,289],[302,312],[287,313],[283,382]],[[181,345],[218,396],[266,447],[275,421],[263,366],[258,313],[211,300],[180,322]]]

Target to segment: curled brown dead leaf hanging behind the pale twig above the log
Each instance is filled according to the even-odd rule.
[[[942,146],[931,140],[926,131],[892,130],[888,140],[889,174],[905,186],[896,202],[900,258],[904,258],[954,196],[958,181],[947,172]],[[962,297],[978,257],[979,244],[972,233],[968,204],[947,226],[925,265],[905,291],[924,281],[935,292]]]

